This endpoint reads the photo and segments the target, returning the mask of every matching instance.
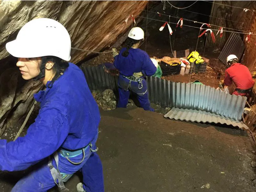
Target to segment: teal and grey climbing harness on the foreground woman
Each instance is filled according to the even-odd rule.
[[[51,156],[48,157],[49,161],[47,166],[50,169],[52,178],[54,180],[54,183],[60,188],[60,191],[69,191],[68,188],[65,187],[64,182],[68,181],[68,179],[73,175],[73,174],[67,174],[67,173],[61,173],[59,170],[59,156],[58,153],[60,154],[60,156],[65,157],[70,163],[74,164],[74,165],[78,165],[83,163],[84,158],[85,158],[85,150],[90,147],[91,152],[96,152],[98,151],[99,148],[96,149],[92,149],[92,143],[90,142],[89,145],[87,145],[85,148],[79,149],[79,150],[75,150],[75,151],[70,151],[70,150],[66,150],[66,149],[60,149],[59,151],[56,151],[53,154],[53,158],[56,162],[56,166],[57,169],[52,165],[52,159]],[[83,158],[80,162],[76,163],[71,161],[69,158],[72,157],[76,157],[83,154]],[[58,183],[57,183],[58,180]]]

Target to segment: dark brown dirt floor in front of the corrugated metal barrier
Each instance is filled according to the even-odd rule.
[[[245,132],[165,119],[141,108],[100,113],[105,191],[256,191],[255,151]],[[9,192],[22,173],[0,175],[1,191]],[[66,183],[70,192],[80,179],[77,173]]]

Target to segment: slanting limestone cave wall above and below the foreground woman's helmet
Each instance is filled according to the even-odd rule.
[[[6,61],[12,56],[5,44],[15,39],[25,23],[42,17],[58,20],[67,28],[72,47],[99,52],[122,43],[125,39],[120,37],[132,23],[132,19],[127,24],[124,20],[130,14],[136,19],[146,5],[147,1],[0,1],[0,136],[29,111],[33,94],[43,88],[40,82],[25,83],[15,62],[9,65]],[[36,46],[40,45],[35,42]],[[71,62],[89,54],[73,49]],[[114,105],[111,102],[112,108]]]

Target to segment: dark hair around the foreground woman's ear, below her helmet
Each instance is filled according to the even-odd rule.
[[[52,78],[51,83],[48,85],[48,88],[51,88],[53,83],[65,72],[68,68],[69,64],[66,61],[63,61],[59,57],[55,56],[44,56],[41,58],[41,65],[40,65],[40,73],[38,76],[33,78],[35,81],[44,78],[45,76],[45,64],[48,61],[52,61],[54,63],[52,70],[55,73],[55,76]]]

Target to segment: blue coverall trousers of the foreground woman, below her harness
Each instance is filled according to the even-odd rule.
[[[97,138],[96,138],[97,140]],[[95,149],[96,140],[92,141],[92,148]],[[80,162],[83,155],[69,158],[73,162]],[[46,192],[55,186],[49,167],[48,159],[40,162],[33,172],[22,178],[16,183],[11,192]],[[52,157],[52,164],[56,168],[56,163]],[[79,165],[68,162],[65,157],[59,154],[59,170],[60,173],[73,174],[77,171],[83,173],[83,188],[86,192],[103,192],[103,172],[100,157],[96,152],[92,152],[90,147],[85,150],[84,161]],[[74,186],[76,188],[76,186]]]

